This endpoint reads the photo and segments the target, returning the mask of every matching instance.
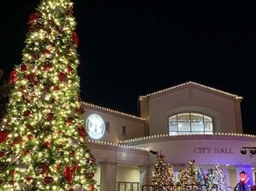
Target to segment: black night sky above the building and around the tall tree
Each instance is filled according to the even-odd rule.
[[[40,0],[1,2],[0,68],[21,63]],[[137,97],[192,80],[238,94],[256,135],[256,2],[74,0],[81,97],[137,114]]]

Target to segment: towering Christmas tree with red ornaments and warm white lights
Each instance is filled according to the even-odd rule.
[[[22,63],[0,129],[0,190],[96,190],[79,99],[71,0],[42,0],[29,15]]]

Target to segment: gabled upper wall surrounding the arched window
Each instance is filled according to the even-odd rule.
[[[195,87],[186,87],[150,98],[150,135],[168,134],[168,116],[178,109],[189,109],[189,107],[198,107],[218,114],[219,121],[216,127],[220,132],[237,132],[233,100]]]

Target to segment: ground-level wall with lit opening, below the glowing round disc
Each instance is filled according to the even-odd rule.
[[[147,169],[149,152],[95,142],[87,145],[100,168],[95,174],[99,190],[118,191],[118,183],[124,181],[140,182],[140,187],[146,184],[147,170],[144,169]]]

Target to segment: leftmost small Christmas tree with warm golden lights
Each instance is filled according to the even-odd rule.
[[[173,190],[174,183],[174,171],[171,165],[165,161],[164,155],[157,153],[157,162],[152,176],[153,190]]]

